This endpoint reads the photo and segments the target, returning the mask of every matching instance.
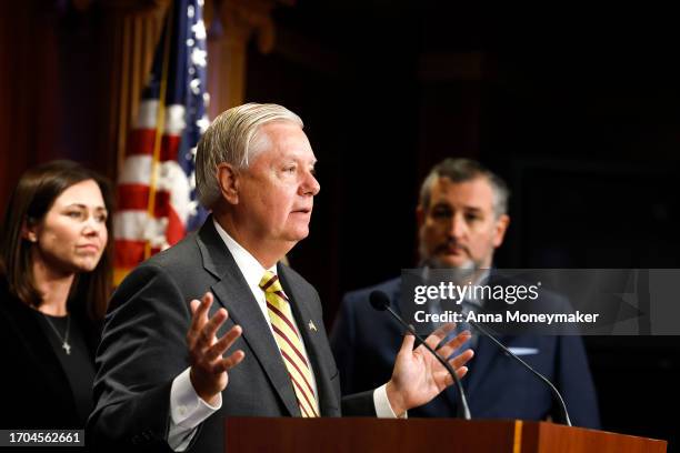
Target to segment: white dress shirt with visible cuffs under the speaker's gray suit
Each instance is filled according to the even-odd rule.
[[[258,306],[262,311],[262,315],[267,320],[267,324],[269,325],[269,330],[273,336],[273,329],[271,323],[269,322],[269,315],[267,314],[267,299],[264,298],[264,291],[260,288],[260,280],[262,275],[264,275],[266,271],[271,271],[274,274],[277,273],[276,264],[270,269],[264,269],[262,264],[258,260],[254,259],[246,249],[243,249],[237,241],[234,241],[224,229],[217,222],[217,220],[212,220],[214,223],[214,228],[218,231],[218,234],[224,241],[227,249],[233,256],[233,260],[237,263],[237,266],[243,274],[246,282],[248,283],[248,288],[252,292],[256,301],[258,302]],[[291,320],[293,324],[296,324],[296,329],[298,328],[296,320]],[[300,339],[302,340],[302,339]],[[302,349],[304,349],[304,355],[307,355],[307,350],[304,348],[304,342],[302,342]],[[182,373],[180,373],[172,381],[172,386],[170,389],[170,427],[168,430],[168,444],[176,452],[183,452],[191,443],[191,439],[196,433],[196,429],[206,419],[216,413],[222,406],[222,394],[218,394],[218,399],[214,405],[210,405],[204,402],[193,390],[193,385],[191,384],[191,380],[189,379],[189,372],[191,368],[188,368]],[[312,390],[314,391],[314,395],[318,397],[318,389],[317,389],[317,380],[314,378],[314,370],[310,366],[310,371],[312,373]],[[373,391],[373,404],[376,405],[376,414],[381,419],[396,419],[397,415],[392,411],[390,406],[390,402],[387,396],[386,385],[383,384],[380,387]],[[317,407],[318,409],[318,407]]]

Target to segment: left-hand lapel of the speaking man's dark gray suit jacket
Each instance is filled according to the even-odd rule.
[[[299,415],[298,400],[281,354],[278,353],[279,346],[239,266],[214,229],[212,218],[206,221],[197,241],[203,256],[203,266],[220,279],[210,288],[212,293],[227,309],[229,318],[243,329],[241,338],[264,370],[290,415]]]

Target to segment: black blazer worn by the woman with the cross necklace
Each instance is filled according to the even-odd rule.
[[[94,360],[97,329],[73,313]],[[1,429],[83,429],[73,392],[36,313],[10,294],[0,276],[0,360],[3,363]]]

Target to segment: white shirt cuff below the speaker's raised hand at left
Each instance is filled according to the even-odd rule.
[[[188,368],[174,378],[170,389],[168,445],[176,452],[187,450],[198,425],[222,407],[221,393],[214,405],[208,404],[196,393],[189,376],[190,371]]]

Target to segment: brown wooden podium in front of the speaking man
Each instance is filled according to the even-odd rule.
[[[520,420],[259,419],[224,421],[226,451],[663,453],[667,442]]]

